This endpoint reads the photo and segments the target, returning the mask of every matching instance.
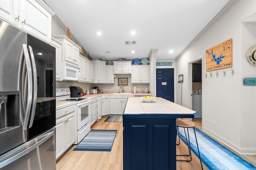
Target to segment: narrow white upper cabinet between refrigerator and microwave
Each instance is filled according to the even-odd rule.
[[[56,49],[56,80],[60,81],[61,79],[61,46],[62,43],[60,41],[58,41],[57,39],[55,39],[54,37],[52,37],[52,44],[53,47],[55,47]]]

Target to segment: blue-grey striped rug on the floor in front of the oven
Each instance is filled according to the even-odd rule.
[[[91,130],[74,150],[111,151],[117,130]]]

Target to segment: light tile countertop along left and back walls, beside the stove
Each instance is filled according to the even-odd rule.
[[[132,92],[127,92],[127,93],[118,93],[118,92],[113,92],[113,91],[106,91],[104,93],[98,93],[98,94],[86,94],[85,96],[82,96],[80,98],[88,98],[88,100],[95,98],[95,97],[100,97],[100,96],[107,96],[107,95],[132,95],[132,96],[150,96],[151,93],[132,93]],[[62,102],[62,101],[56,101],[56,110],[63,109],[64,107],[72,106],[75,105],[76,102]]]

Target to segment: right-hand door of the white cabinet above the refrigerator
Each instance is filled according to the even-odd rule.
[[[20,0],[20,29],[51,42],[52,16],[34,0]],[[26,22],[24,22],[26,20]]]

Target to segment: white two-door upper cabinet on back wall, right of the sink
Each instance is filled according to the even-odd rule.
[[[132,65],[132,83],[149,83],[149,65]]]

